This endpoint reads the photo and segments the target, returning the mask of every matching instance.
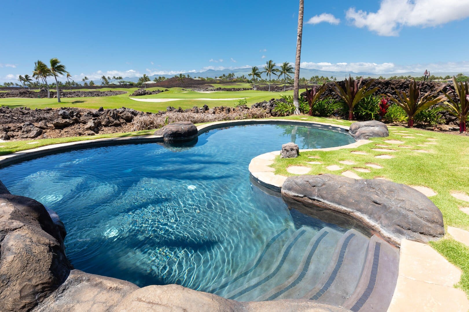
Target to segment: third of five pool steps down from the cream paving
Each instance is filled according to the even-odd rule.
[[[257,297],[256,301],[302,298],[310,291],[310,285],[316,285],[323,277],[342,235],[330,228],[320,230],[312,240],[313,244],[305,249],[305,257],[295,274]]]

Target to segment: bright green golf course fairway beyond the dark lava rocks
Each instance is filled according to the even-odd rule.
[[[99,107],[104,108],[119,108],[122,106],[136,109],[138,111],[150,111],[158,112],[165,111],[166,107],[182,107],[183,109],[192,108],[194,105],[199,107],[207,104],[209,107],[215,106],[231,106],[233,107],[237,100],[230,101],[204,101],[204,100],[193,100],[194,98],[246,98],[248,105],[252,105],[257,102],[270,100],[271,98],[279,98],[280,94],[293,95],[293,91],[287,92],[267,92],[267,91],[221,91],[214,93],[200,93],[193,91],[182,91],[182,88],[171,88],[169,91],[162,92],[160,94],[143,96],[136,98],[180,98],[180,101],[153,103],[153,102],[139,102],[129,98],[129,95],[134,92],[137,88],[124,89],[124,88],[102,88],[98,90],[109,91],[109,90],[121,90],[127,91],[127,94],[121,94],[111,97],[72,97],[72,98],[61,98],[61,103],[57,102],[57,99],[47,98],[0,98],[0,105],[6,105],[9,107],[21,107],[26,106],[32,109],[34,108],[60,108],[60,107],[79,107],[79,108],[91,108],[98,109]],[[148,88],[149,90],[165,89],[165,88]],[[83,89],[87,90],[87,89]],[[303,90],[300,90],[303,92]]]

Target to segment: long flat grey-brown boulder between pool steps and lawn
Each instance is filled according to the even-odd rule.
[[[432,201],[391,181],[303,175],[287,178],[281,193],[290,209],[378,234],[397,246],[402,238],[428,242],[445,233],[443,215]]]

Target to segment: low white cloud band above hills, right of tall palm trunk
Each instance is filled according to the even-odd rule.
[[[396,65],[394,63],[313,63],[302,62],[302,68],[318,69],[330,72],[362,72],[367,74],[400,74],[407,72],[424,72],[425,69],[430,70],[432,73],[443,72],[468,72],[469,61],[462,62],[449,62],[449,63],[430,63],[430,64],[414,64],[414,65]]]

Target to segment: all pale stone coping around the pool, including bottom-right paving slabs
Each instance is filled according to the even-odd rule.
[[[212,122],[197,126],[197,130],[198,135],[200,135],[209,130],[223,126],[254,124],[283,124],[298,126],[321,125],[325,126],[325,129],[336,128],[344,132],[348,132],[349,128],[348,126],[314,121],[289,119],[241,119]],[[139,144],[151,142],[163,142],[163,137],[159,135],[142,135],[132,137],[101,138],[47,145],[0,156],[0,168],[11,163],[17,163],[30,158],[71,149],[86,149],[113,144]],[[344,146],[326,149],[303,149],[300,150],[300,152],[352,149],[370,142],[371,141],[369,140],[360,140]],[[254,157],[249,165],[251,178],[260,185],[276,192],[280,192],[281,184],[283,184],[283,181],[287,178],[284,176],[274,175],[274,169],[269,167],[269,165],[273,163],[275,157],[279,154],[280,151],[274,151],[259,155]],[[416,307],[421,307],[422,310],[425,311],[468,311],[468,297],[464,291],[456,289],[453,286],[455,283],[459,282],[460,279],[461,270],[449,263],[448,260],[431,248],[431,246],[403,239],[400,249],[397,285],[388,311],[407,311],[409,308]]]

